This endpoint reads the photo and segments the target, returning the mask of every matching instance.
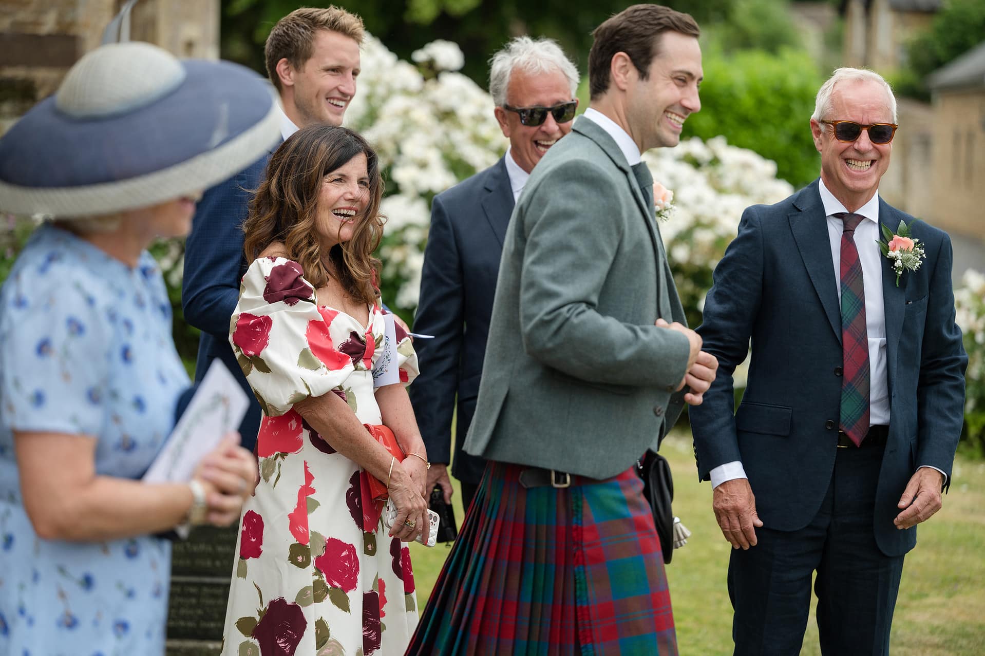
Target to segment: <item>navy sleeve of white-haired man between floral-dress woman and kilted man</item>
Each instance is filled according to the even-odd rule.
[[[410,386],[411,403],[431,462],[451,460],[451,419],[458,389],[464,334],[464,288],[455,233],[441,197],[431,204],[421,299],[414,330],[434,335],[417,340],[414,348],[421,375]],[[464,439],[464,435],[459,435]]]

